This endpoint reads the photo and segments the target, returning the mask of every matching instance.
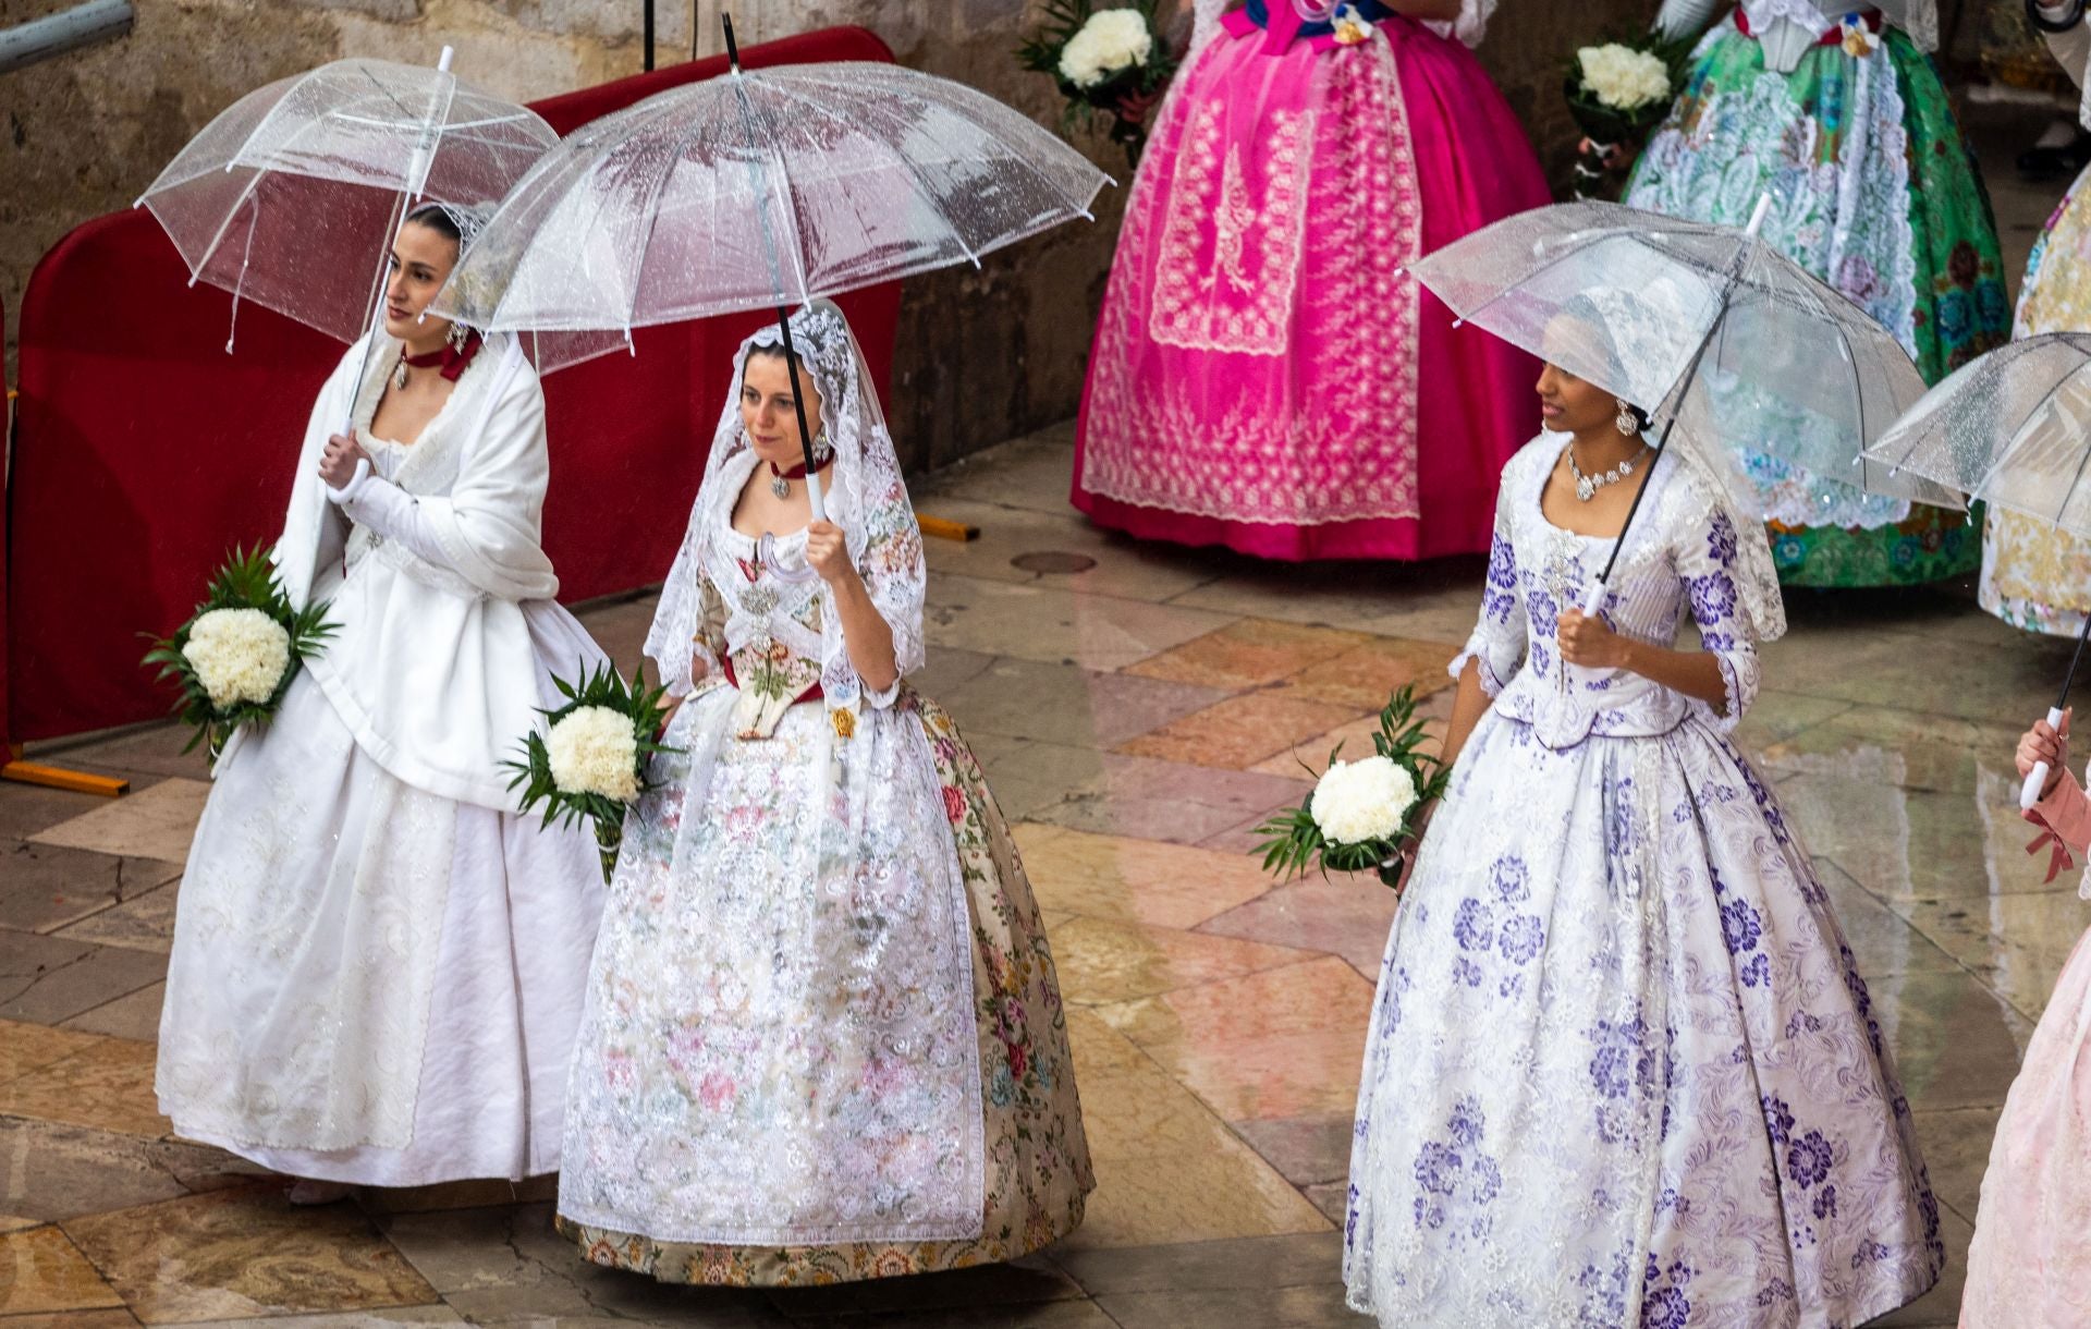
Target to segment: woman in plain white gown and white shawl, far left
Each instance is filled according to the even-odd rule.
[[[537,544],[535,373],[420,320],[475,218],[408,218],[368,370],[314,404],[274,561],[339,632],[226,745],[176,917],[161,1111],[301,1203],[558,1168],[602,871],[500,762],[602,653]]]

